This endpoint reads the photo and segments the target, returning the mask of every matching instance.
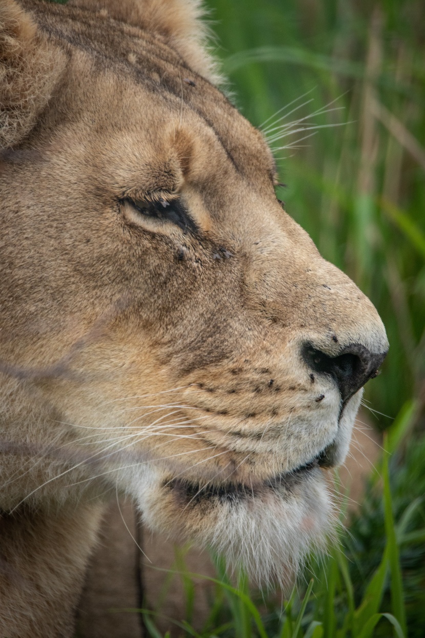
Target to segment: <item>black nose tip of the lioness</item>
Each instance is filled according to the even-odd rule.
[[[348,401],[366,381],[377,376],[387,353],[372,353],[360,343],[345,346],[337,357],[329,357],[312,344],[303,346],[303,359],[319,375],[330,375],[338,385],[343,402]]]

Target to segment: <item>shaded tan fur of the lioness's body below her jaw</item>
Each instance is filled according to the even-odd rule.
[[[1,543],[7,561],[1,565],[0,578],[2,637],[72,631],[73,608],[78,604],[101,513],[97,503],[53,510],[48,516],[25,509],[3,515]]]

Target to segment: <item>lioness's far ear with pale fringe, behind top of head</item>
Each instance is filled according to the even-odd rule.
[[[201,0],[69,0],[68,4],[161,34],[196,73],[220,82],[206,47],[210,31],[202,20]]]

